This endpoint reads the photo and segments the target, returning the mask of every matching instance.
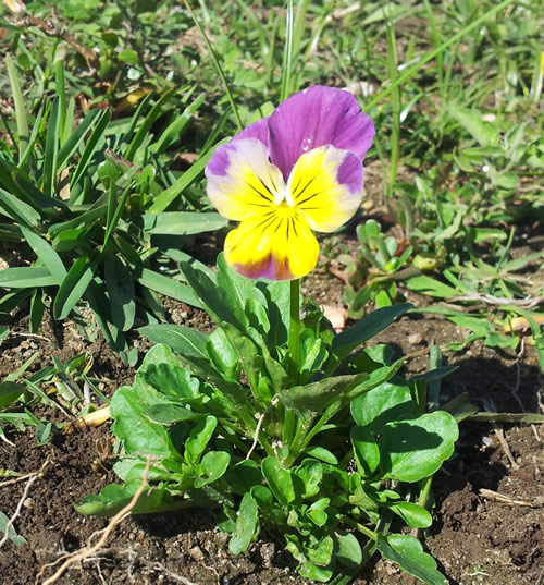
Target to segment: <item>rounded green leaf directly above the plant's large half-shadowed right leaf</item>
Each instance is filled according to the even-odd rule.
[[[415,402],[410,387],[395,378],[356,398],[350,409],[358,425],[379,434],[387,423],[413,414]]]

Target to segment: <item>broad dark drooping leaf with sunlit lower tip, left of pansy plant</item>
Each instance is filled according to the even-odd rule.
[[[112,322],[121,331],[127,331],[133,327],[136,316],[132,271],[121,258],[108,255],[104,261],[104,278]]]

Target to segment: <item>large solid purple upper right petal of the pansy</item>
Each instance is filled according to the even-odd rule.
[[[321,85],[286,99],[268,125],[270,158],[285,180],[300,156],[319,146],[330,144],[350,150],[362,160],[375,133],[374,124],[351,94]]]

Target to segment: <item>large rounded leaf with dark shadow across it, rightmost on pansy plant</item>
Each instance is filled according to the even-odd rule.
[[[388,423],[379,441],[385,477],[419,482],[433,475],[452,456],[458,437],[455,418],[444,411]]]

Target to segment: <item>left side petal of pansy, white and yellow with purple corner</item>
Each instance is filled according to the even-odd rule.
[[[223,217],[242,221],[284,198],[282,173],[269,155],[256,138],[234,141],[215,150],[206,167],[207,193]]]

